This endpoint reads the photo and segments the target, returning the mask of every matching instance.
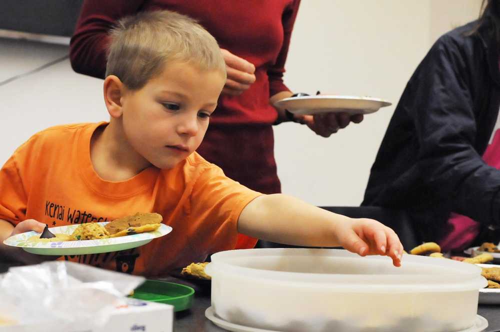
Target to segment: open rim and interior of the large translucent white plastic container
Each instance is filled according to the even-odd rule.
[[[343,291],[463,291],[479,289],[481,268],[452,259],[404,254],[401,267],[385,256],[360,257],[343,249],[240,249],[213,254],[213,276],[238,275],[267,283],[341,288]]]

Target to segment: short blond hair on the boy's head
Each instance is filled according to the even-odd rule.
[[[168,10],[139,12],[120,19],[109,36],[106,77],[116,75],[129,89],[140,89],[172,61],[225,75],[217,41],[188,16]]]

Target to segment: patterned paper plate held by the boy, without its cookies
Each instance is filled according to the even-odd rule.
[[[100,225],[105,225],[107,222],[97,222]],[[78,224],[52,227],[49,230],[52,233],[71,234]],[[158,229],[145,233],[125,235],[119,237],[102,238],[96,240],[81,240],[81,241],[59,241],[59,242],[35,242],[28,241],[33,235],[39,235],[35,231],[27,231],[20,233],[3,241],[4,244],[10,246],[21,247],[27,252],[40,255],[81,255],[91,253],[103,253],[110,251],[126,250],[144,245],[152,239],[168,234],[172,231],[172,227],[163,223]]]

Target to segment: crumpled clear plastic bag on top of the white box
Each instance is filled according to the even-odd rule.
[[[18,325],[0,332],[91,330],[105,324],[110,311],[143,281],[68,261],[11,267],[0,277],[0,322]]]

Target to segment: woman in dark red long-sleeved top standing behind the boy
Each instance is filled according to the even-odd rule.
[[[362,115],[286,116],[272,104],[292,95],[283,84],[288,43],[300,0],[85,0],[70,43],[76,72],[104,78],[108,30],[120,17],[168,9],[198,20],[217,40],[227,82],[198,148],[225,174],[263,193],[281,191],[274,160],[272,124],[293,120],[328,137]],[[237,248],[256,240],[240,235]]]

